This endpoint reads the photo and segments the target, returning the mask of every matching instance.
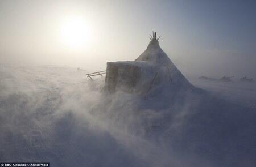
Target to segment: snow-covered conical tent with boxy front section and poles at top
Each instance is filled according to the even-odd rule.
[[[109,92],[121,90],[148,95],[193,88],[160,48],[156,33],[153,35],[147,49],[135,61],[107,63],[105,88]]]

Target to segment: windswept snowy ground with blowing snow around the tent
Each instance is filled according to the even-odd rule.
[[[93,71],[88,71],[93,72]],[[0,66],[0,161],[52,166],[255,166],[254,83],[189,79],[170,99],[105,95],[104,78]]]

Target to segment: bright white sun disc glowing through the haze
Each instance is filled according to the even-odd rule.
[[[85,20],[81,17],[65,19],[61,26],[61,40],[71,48],[81,48],[86,45],[90,38],[89,30]]]

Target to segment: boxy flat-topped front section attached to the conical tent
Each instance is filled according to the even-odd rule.
[[[124,92],[143,94],[154,78],[155,68],[145,61],[108,62],[105,86],[110,92],[117,88]]]

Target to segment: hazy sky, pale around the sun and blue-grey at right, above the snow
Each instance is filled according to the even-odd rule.
[[[154,30],[185,74],[255,77],[255,17],[249,0],[0,1],[0,63],[104,70],[106,61],[137,58]],[[76,18],[85,31],[63,35]],[[82,36],[75,47],[73,33]]]

